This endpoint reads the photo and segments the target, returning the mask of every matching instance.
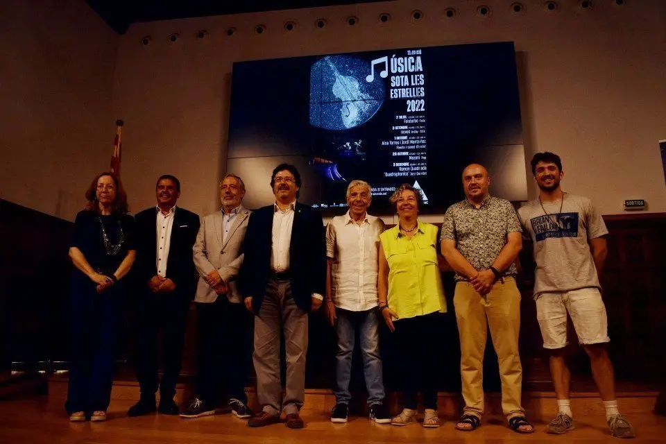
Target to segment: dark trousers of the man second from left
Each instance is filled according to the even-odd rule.
[[[137,307],[136,366],[142,398],[153,398],[160,387],[160,399],[173,399],[176,381],[180,375],[182,348],[189,297],[173,293],[139,294]],[[158,384],[160,335],[162,336],[162,364],[164,373]]]

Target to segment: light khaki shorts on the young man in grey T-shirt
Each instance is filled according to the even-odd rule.
[[[609,342],[606,306],[597,288],[563,293],[542,293],[536,298],[543,348],[556,349],[568,345],[567,312],[574,323],[581,345]]]

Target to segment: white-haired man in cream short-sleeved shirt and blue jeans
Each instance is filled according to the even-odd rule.
[[[338,336],[335,407],[331,422],[347,422],[349,381],[358,332],[363,357],[370,419],[391,422],[384,405],[382,358],[377,321],[377,254],[384,221],[368,214],[372,190],[368,182],[352,180],[347,187],[349,211],[326,228],[326,316]]]

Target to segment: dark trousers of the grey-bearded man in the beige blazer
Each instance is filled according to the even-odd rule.
[[[220,295],[215,302],[196,303],[199,336],[198,396],[209,407],[219,393],[247,403],[245,387],[252,370],[253,316],[242,303]]]

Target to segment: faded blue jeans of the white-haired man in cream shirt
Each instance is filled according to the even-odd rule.
[[[348,311],[336,308],[336,333],[338,352],[335,356],[335,402],[349,404],[349,379],[352,373],[352,355],[356,332],[359,332],[363,373],[368,389],[368,405],[384,402],[384,381],[382,379],[382,358],[379,356],[379,321],[377,311]]]

